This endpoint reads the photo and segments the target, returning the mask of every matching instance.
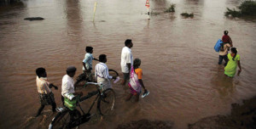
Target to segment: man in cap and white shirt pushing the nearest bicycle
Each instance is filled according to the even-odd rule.
[[[61,85],[61,100],[64,104],[64,97],[67,97],[68,94],[73,95],[80,95],[82,96],[82,92],[75,92],[74,90],[74,81],[73,76],[76,74],[76,67],[69,66],[67,67],[67,75],[63,76],[62,78],[62,85]]]

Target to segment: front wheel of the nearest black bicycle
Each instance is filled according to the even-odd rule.
[[[115,103],[115,93],[112,88],[102,92],[101,97],[98,99],[98,110],[101,115],[113,114],[113,108]]]

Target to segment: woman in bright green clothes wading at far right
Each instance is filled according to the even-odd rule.
[[[231,48],[231,53],[228,54],[228,59],[229,62],[224,68],[224,74],[230,77],[234,77],[236,74],[237,65],[239,67],[238,74],[241,72],[240,55],[237,54],[236,48]]]

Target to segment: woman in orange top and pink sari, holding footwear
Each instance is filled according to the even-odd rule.
[[[142,87],[144,89],[143,97],[149,94],[143,84],[143,70],[139,68],[140,65],[141,59],[134,59],[133,67],[131,67],[130,81],[128,83],[131,93],[127,96],[126,101],[130,100],[132,96],[136,96],[136,101],[138,101]]]

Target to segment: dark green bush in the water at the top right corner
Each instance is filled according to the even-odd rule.
[[[256,16],[256,1],[246,0],[241,3],[238,10],[227,8],[226,16],[241,17],[245,15]]]

